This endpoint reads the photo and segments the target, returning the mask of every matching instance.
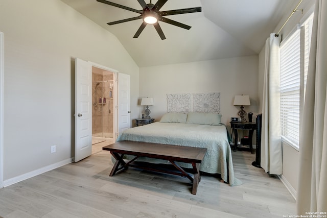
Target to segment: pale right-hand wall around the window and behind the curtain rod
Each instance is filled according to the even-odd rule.
[[[289,9],[289,13],[285,14],[281,21],[276,26],[275,30],[272,33],[277,32],[285,22],[285,20],[289,17],[291,12],[298,4],[298,0],[293,0],[293,5]],[[303,9],[303,13],[298,11],[292,15],[289,19],[283,30],[279,35],[281,35],[282,40],[285,39],[295,28],[297,23],[303,22],[308,14],[313,11],[314,0],[303,0],[300,4],[298,9]],[[267,36],[269,37],[269,36]],[[265,64],[265,47],[263,47],[262,51],[259,54],[259,81],[258,81],[258,89],[260,94],[259,99],[259,111],[262,111],[262,90],[263,90],[263,80],[264,80],[264,64]],[[299,173],[299,152],[295,150],[293,147],[289,146],[288,144],[283,143],[283,175],[282,180],[288,186],[289,190],[291,191],[292,195],[296,196],[297,191],[297,182],[298,182],[298,173]]]

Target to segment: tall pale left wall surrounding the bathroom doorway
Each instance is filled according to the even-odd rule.
[[[75,57],[131,75],[131,118],[138,116],[138,66],[116,37],[71,7],[1,0],[0,31],[5,181],[73,156]]]

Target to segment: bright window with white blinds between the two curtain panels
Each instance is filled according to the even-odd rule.
[[[281,43],[280,101],[282,140],[299,148],[299,126],[308,75],[313,14]]]

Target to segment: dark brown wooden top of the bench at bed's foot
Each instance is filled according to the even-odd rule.
[[[206,153],[205,148],[128,140],[115,142],[102,150],[185,163],[201,163]]]

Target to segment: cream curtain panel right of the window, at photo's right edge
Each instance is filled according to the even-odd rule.
[[[327,1],[316,0],[303,117],[297,213],[327,212]],[[326,214],[318,214],[326,215]]]

